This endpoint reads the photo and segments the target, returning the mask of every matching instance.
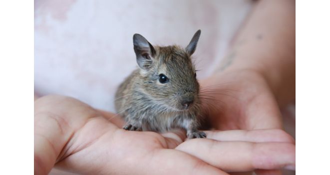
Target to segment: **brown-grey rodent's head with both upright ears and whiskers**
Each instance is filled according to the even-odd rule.
[[[172,45],[152,46],[142,35],[133,35],[136,61],[140,67],[143,93],[151,100],[174,111],[197,107],[199,83],[191,55],[194,53],[201,30],[198,30],[185,49]]]

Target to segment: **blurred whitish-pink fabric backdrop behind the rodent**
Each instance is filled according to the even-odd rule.
[[[193,54],[201,79],[252,6],[252,0],[35,0],[35,93],[114,112],[116,87],[137,67],[134,33],[153,45],[186,47],[201,29]]]

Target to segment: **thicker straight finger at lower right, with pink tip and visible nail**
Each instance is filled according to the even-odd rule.
[[[228,172],[273,170],[296,164],[296,147],[289,143],[219,142],[211,139],[192,139],[180,144],[176,149]]]

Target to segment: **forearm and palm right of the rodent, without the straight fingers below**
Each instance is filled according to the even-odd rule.
[[[295,1],[258,1],[224,61],[201,82],[211,127],[282,130],[280,108],[295,99],[295,47]]]

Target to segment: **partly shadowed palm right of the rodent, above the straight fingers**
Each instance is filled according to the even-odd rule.
[[[281,119],[275,97],[267,82],[254,72],[228,72],[202,82],[206,94],[206,108],[211,106],[209,119],[212,127],[228,129],[281,128]],[[210,98],[212,96],[212,98]],[[212,108],[213,107],[213,108]]]

